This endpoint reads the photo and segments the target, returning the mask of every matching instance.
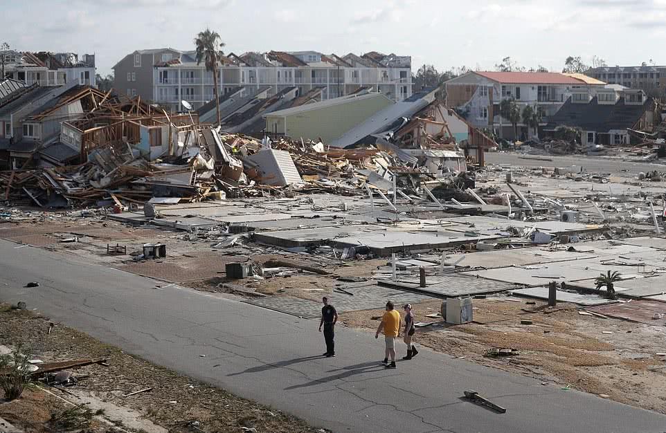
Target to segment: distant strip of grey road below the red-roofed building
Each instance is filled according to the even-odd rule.
[[[621,174],[624,172],[629,174],[638,174],[639,172],[647,172],[651,170],[665,171],[666,166],[663,164],[654,163],[632,163],[619,159],[600,158],[595,156],[536,156],[525,155],[528,158],[545,158],[547,160],[525,159],[521,158],[520,154],[516,153],[502,153],[502,152],[488,152],[485,154],[486,163],[489,164],[510,164],[521,167],[570,167],[577,165],[584,167],[588,172],[600,173],[613,173]]]

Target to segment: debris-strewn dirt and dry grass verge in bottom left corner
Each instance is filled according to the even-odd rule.
[[[109,367],[91,365],[72,370],[74,376],[89,376],[79,385],[66,388],[66,392],[48,387],[47,391],[56,396],[31,387],[18,400],[0,403],[0,417],[28,432],[45,432],[44,423],[52,410],[71,407],[61,398],[75,404],[89,403],[95,411],[102,409],[91,424],[89,431],[94,433],[240,432],[241,427],[257,432],[324,431],[224,389],[152,365],[66,326],[57,324],[48,334],[48,323],[46,317],[0,304],[0,344],[16,347],[29,342],[33,357],[47,362],[106,358]],[[125,396],[148,387],[152,390]],[[197,421],[199,430],[188,427],[188,421]]]

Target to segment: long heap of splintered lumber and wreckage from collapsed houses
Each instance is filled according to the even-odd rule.
[[[169,128],[134,126],[149,133],[159,128],[162,134]],[[442,151],[432,151],[433,155],[424,151],[417,158],[393,145],[347,150],[313,140],[260,141],[207,125],[171,125],[168,134],[168,145],[152,136],[150,140],[124,136],[103,145],[86,142],[85,160],[78,165],[0,172],[0,194],[15,205],[103,206],[120,212],[132,203],[191,203],[295,192],[351,195],[365,194],[367,187],[388,192],[394,177],[397,185],[420,193],[422,182],[436,177],[433,167],[441,175],[442,161],[451,158]],[[154,146],[154,141],[159,145]],[[448,152],[458,158],[454,168],[464,168],[462,154]],[[464,170],[444,167],[447,176],[459,171]]]

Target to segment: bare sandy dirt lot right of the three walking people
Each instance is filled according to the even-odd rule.
[[[440,311],[441,301],[417,304],[416,321],[434,321],[435,326],[418,329],[415,342],[456,358],[666,414],[666,357],[656,355],[666,352],[663,326],[579,315],[573,304],[548,308],[543,302],[525,302],[474,300],[475,322],[464,325],[424,317]],[[381,313],[355,311],[341,315],[341,320],[346,326],[375,331],[377,320],[372,317]],[[523,319],[533,324],[521,324]],[[515,348],[520,354],[484,356],[492,347]],[[397,349],[404,356],[404,344]]]

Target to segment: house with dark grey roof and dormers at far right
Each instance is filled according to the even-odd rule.
[[[628,129],[650,129],[659,122],[653,98],[641,90],[624,89],[619,95],[600,92],[589,101],[569,98],[543,129],[548,135],[558,127],[579,128],[580,142],[587,146],[625,145],[631,142]]]

